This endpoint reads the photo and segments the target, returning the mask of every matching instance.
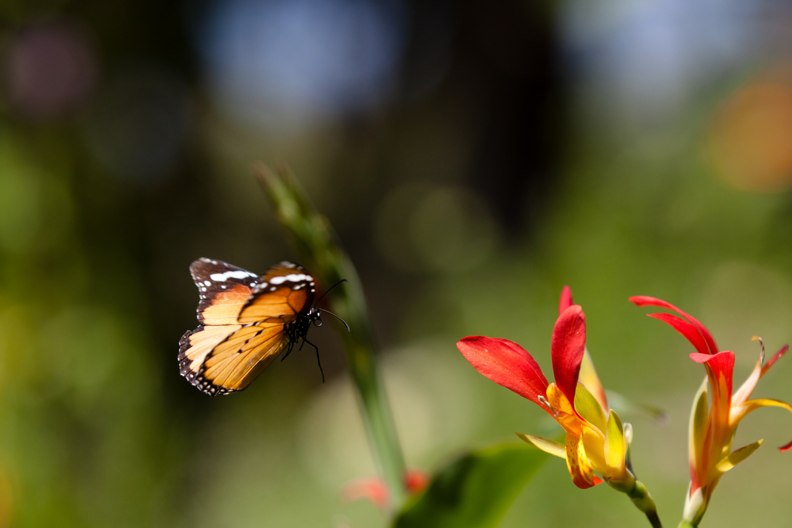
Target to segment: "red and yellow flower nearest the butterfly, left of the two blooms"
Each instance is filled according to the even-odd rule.
[[[521,439],[547,453],[565,458],[578,488],[603,480],[631,488],[634,477],[626,469],[626,442],[619,416],[607,406],[605,391],[586,350],[586,320],[565,287],[558,306],[550,355],[554,383],[548,383],[539,364],[524,348],[495,337],[470,336],[457,348],[478,372],[543,408],[566,432],[565,444],[537,436]]]

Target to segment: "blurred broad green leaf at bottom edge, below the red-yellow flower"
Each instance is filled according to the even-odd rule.
[[[474,450],[440,469],[393,528],[495,528],[547,455],[520,443]]]

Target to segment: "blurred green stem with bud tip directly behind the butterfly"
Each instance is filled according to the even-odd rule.
[[[347,321],[351,329],[346,332],[337,324],[375,464],[390,489],[390,507],[398,510],[406,500],[404,457],[377,369],[371,323],[355,266],[335,242],[327,218],[316,211],[287,169],[274,173],[263,163],[256,163],[253,171],[272,201],[278,220],[291,235],[300,259],[322,287],[329,288],[341,279],[348,281],[333,288],[326,298],[333,313]]]

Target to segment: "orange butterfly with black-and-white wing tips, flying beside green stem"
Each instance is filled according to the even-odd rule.
[[[284,261],[260,277],[201,258],[190,274],[200,295],[200,325],[181,336],[179,370],[193,386],[211,396],[245,389],[300,339],[316,349],[319,361],[319,349],[306,339],[310,324],[321,326],[322,317],[311,306],[316,281],[305,268]],[[324,382],[322,363],[319,370]]]

